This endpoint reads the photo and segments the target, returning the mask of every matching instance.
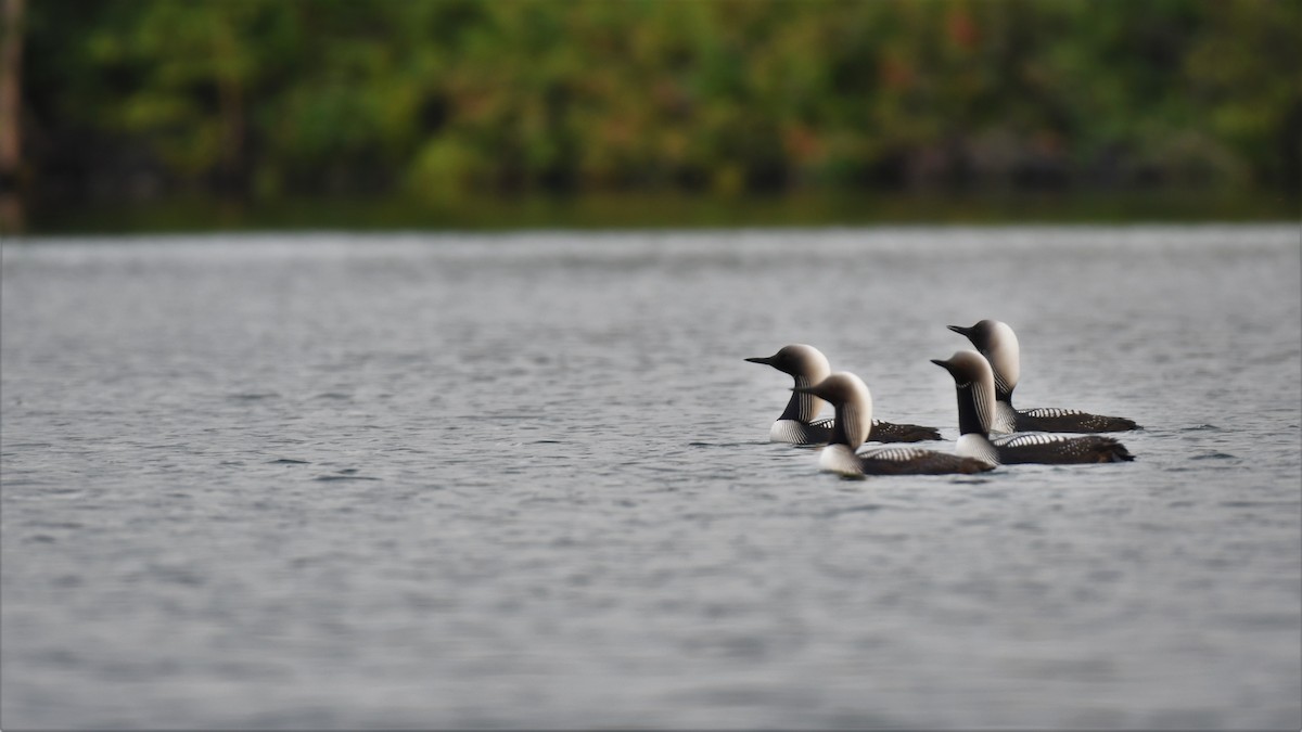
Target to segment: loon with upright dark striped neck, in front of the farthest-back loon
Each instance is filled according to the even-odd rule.
[[[1019,432],[990,436],[995,419],[995,373],[986,357],[960,350],[949,361],[932,359],[954,378],[958,393],[958,455],[995,464],[1122,462],[1134,460],[1126,445],[1103,435]]]

